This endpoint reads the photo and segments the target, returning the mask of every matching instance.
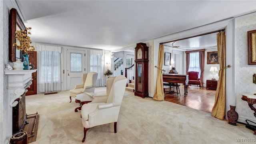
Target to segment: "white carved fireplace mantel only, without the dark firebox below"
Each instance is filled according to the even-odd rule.
[[[32,84],[32,73],[36,70],[4,70],[4,74],[8,75],[7,80],[7,94],[10,96],[10,106],[14,107],[18,104],[15,101],[21,98],[21,95],[27,91]]]

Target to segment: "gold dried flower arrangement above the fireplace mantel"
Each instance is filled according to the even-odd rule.
[[[32,28],[31,27],[26,27],[26,30],[17,30],[15,32],[15,38],[17,38],[17,40],[19,41],[19,44],[16,42],[13,44],[13,46],[16,46],[17,50],[22,50],[24,51],[25,54],[28,54],[28,50],[30,51],[34,51],[35,47],[34,46],[30,46],[30,44],[32,43],[32,41],[30,40],[30,37],[28,36],[28,34],[31,34],[30,30]],[[29,30],[29,31],[28,31]]]

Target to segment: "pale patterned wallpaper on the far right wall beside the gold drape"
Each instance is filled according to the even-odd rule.
[[[252,75],[256,65],[248,65],[247,31],[256,30],[256,13],[235,19],[235,99],[239,117],[256,120],[247,102],[241,100],[243,93],[256,93]]]

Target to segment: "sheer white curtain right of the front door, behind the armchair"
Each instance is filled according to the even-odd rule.
[[[90,72],[98,73],[96,86],[105,86],[103,51],[90,50]]]

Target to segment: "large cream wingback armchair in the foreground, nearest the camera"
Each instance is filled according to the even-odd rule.
[[[82,106],[81,117],[84,126],[84,142],[86,132],[94,127],[114,122],[114,133],[116,133],[116,124],[118,114],[126,88],[127,78],[119,75],[108,78],[106,96],[95,96],[92,102]],[[111,86],[112,85],[112,86]]]

